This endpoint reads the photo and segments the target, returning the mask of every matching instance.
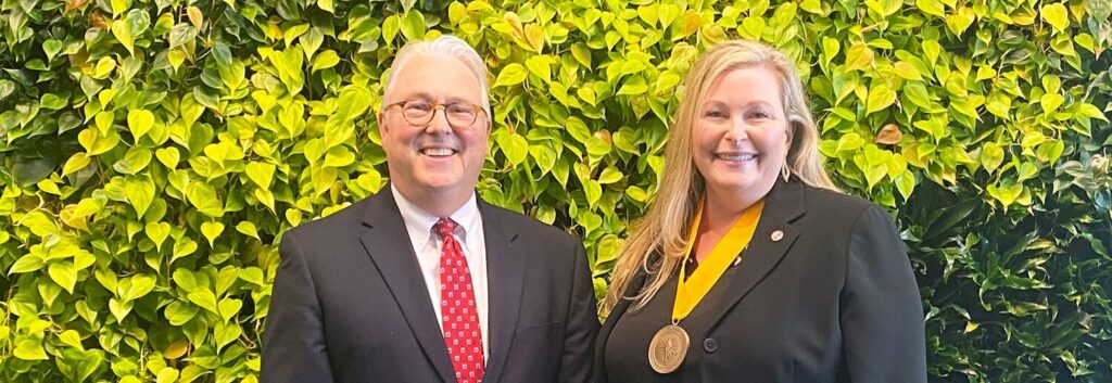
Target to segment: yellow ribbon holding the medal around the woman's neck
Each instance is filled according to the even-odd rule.
[[[699,262],[698,269],[692,273],[691,278],[685,278],[687,275],[687,262],[681,264],[679,280],[676,285],[676,303],[672,306],[673,324],[679,323],[679,320],[691,314],[695,305],[706,296],[711,288],[726,272],[734,258],[749,244],[749,240],[753,239],[753,232],[757,229],[757,222],[761,221],[761,212],[763,210],[763,199],[748,209],[745,209],[745,212],[734,220],[734,226],[729,229],[729,232],[718,240],[718,243],[714,244],[711,253],[703,259],[703,262]],[[699,200],[698,210],[695,212],[695,221],[692,222],[692,231],[687,235],[687,246],[684,249],[685,256],[694,256],[692,255],[692,246],[695,244],[696,235],[698,235],[698,224],[702,219],[703,200]]]

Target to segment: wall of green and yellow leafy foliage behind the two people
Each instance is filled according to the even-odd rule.
[[[405,41],[490,68],[483,198],[596,291],[706,47],[791,54],[893,209],[931,380],[1112,381],[1109,0],[2,0],[0,381],[256,382],[282,231],[379,191]]]

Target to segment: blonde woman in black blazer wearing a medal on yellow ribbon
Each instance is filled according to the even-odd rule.
[[[826,175],[792,61],[729,41],[685,84],[659,194],[604,302],[600,375],[926,382],[903,243],[884,210]]]

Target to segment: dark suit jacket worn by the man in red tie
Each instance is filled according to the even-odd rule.
[[[574,236],[478,201],[487,252],[484,383],[579,383],[598,332]],[[262,382],[455,383],[440,326],[388,190],[282,236]]]

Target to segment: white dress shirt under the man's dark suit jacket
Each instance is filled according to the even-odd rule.
[[[440,324],[440,332],[444,332],[444,319],[440,316],[440,246],[444,244],[440,238],[433,232],[433,225],[440,218],[431,215],[417,205],[406,200],[397,188],[390,184],[390,192],[394,193],[394,201],[401,212],[401,220],[405,221],[406,232],[409,233],[409,241],[413,244],[414,253],[417,254],[417,263],[420,265],[421,276],[425,278],[425,286],[428,288],[428,296],[433,302],[433,310],[436,311],[436,322]],[[487,276],[486,276],[486,239],[483,235],[483,218],[479,215],[478,203],[475,193],[456,212],[449,215],[456,221],[454,236],[464,249],[464,258],[467,259],[467,266],[471,272],[471,289],[475,293],[475,310],[479,313],[479,331],[483,336],[483,357],[490,360],[490,337],[487,331]]]

